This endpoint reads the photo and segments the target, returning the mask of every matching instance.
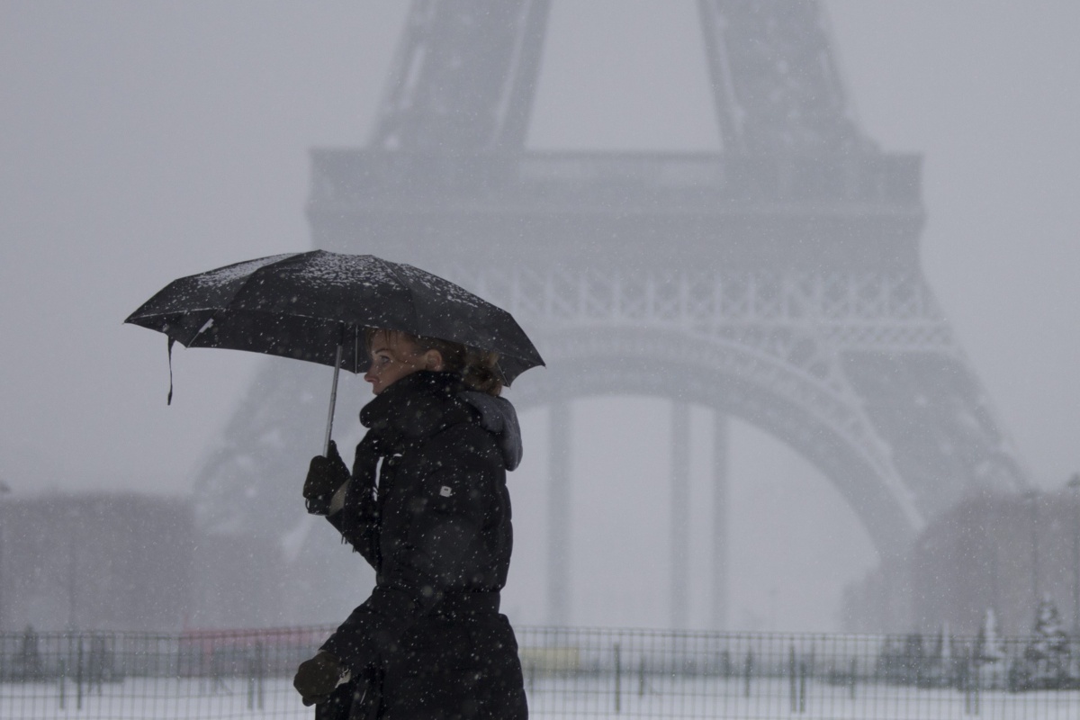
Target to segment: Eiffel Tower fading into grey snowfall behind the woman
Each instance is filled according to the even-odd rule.
[[[691,403],[716,418],[717,627],[729,417],[820,468],[885,559],[968,493],[1026,486],[920,268],[920,158],[849,118],[819,2],[697,4],[719,152],[527,150],[550,0],[414,0],[367,146],[312,153],[315,247],[440,272],[511,310],[549,361],[510,396],[550,408],[556,624],[571,617],[573,398],[673,403],[676,627]],[[197,490],[204,529],[316,568],[307,587],[334,571],[298,494],[327,383],[268,361]]]

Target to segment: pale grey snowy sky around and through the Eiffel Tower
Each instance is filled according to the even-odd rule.
[[[1080,5],[827,6],[859,123],[926,157],[930,284],[1030,476],[1057,487],[1080,468]],[[166,407],[164,338],[121,321],[175,276],[310,246],[307,151],[363,144],[406,9],[0,4],[0,477],[16,493],[190,489],[260,358],[178,348]],[[690,0],[554,0],[544,59],[531,147],[717,146]],[[345,384],[342,433],[362,384]],[[667,461],[633,441],[666,431],[626,419],[663,407],[576,406],[598,449],[575,472],[604,483],[576,490],[575,623],[667,616]],[[544,431],[539,412],[524,421],[508,610],[540,622]],[[835,627],[840,587],[876,563],[865,532],[796,453],[740,423],[731,441],[732,626]],[[691,519],[707,547],[707,517]],[[692,558],[702,603],[706,561]]]

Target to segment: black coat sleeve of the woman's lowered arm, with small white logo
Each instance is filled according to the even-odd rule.
[[[482,551],[488,473],[482,463],[455,462],[422,473],[406,512],[404,542],[382,568],[370,597],[323,644],[354,673],[391,650],[447,590],[468,586]]]

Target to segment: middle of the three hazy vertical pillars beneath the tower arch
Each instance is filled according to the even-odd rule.
[[[672,407],[672,627],[688,625],[690,569],[690,404]]]

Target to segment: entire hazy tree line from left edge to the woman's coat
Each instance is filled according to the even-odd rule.
[[[318,518],[294,533],[289,553],[265,531],[202,531],[194,515],[189,498],[135,492],[8,497],[0,631],[340,622],[374,583]]]

